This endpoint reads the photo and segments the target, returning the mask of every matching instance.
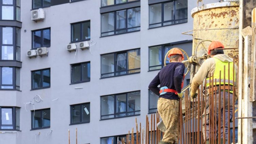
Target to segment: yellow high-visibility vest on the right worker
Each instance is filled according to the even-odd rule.
[[[221,60],[217,58],[213,58],[215,61],[215,70],[213,73],[213,76],[211,76],[211,86],[212,86],[212,79],[213,79],[213,86],[215,84],[215,80],[217,82],[217,85],[228,85],[228,63],[222,62]],[[225,66],[225,78],[224,78],[224,66]],[[221,71],[221,75],[220,75]],[[236,71],[235,71],[236,74]],[[234,78],[234,81],[233,81]],[[225,79],[225,81],[224,81]],[[233,62],[229,63],[229,85],[233,86],[236,82],[236,77],[233,75]],[[206,87],[210,86],[210,78],[206,78]],[[233,93],[233,91],[229,91],[230,93]]]

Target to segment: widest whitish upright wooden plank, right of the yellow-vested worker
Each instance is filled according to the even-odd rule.
[[[247,35],[244,38],[244,83],[243,83],[243,114],[242,117],[252,117],[252,102],[250,101],[250,67],[251,67],[251,35]],[[247,63],[246,63],[247,62]],[[253,143],[253,121],[251,118],[242,119],[243,123],[243,144],[252,144]]]

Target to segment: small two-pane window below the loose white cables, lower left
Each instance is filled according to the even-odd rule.
[[[50,128],[50,109],[32,111],[32,129]]]

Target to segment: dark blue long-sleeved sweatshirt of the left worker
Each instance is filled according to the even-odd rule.
[[[157,76],[150,82],[148,88],[158,96],[160,89],[157,87],[160,84],[160,87],[167,86],[168,89],[176,90],[178,93],[181,93],[181,83],[183,81],[185,65],[183,63],[169,63],[163,67]],[[179,97],[175,93],[166,93],[160,95],[159,97],[166,99],[176,99]]]

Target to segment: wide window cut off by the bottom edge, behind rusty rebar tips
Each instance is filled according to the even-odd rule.
[[[133,135],[134,135],[134,144],[136,144],[136,138],[137,138],[136,133]],[[126,135],[116,135],[116,136],[112,136],[112,137],[100,138],[100,144],[119,144],[122,142],[122,140],[124,140],[125,144],[128,144],[128,143],[126,143]],[[129,141],[131,141],[131,134],[129,137]]]

